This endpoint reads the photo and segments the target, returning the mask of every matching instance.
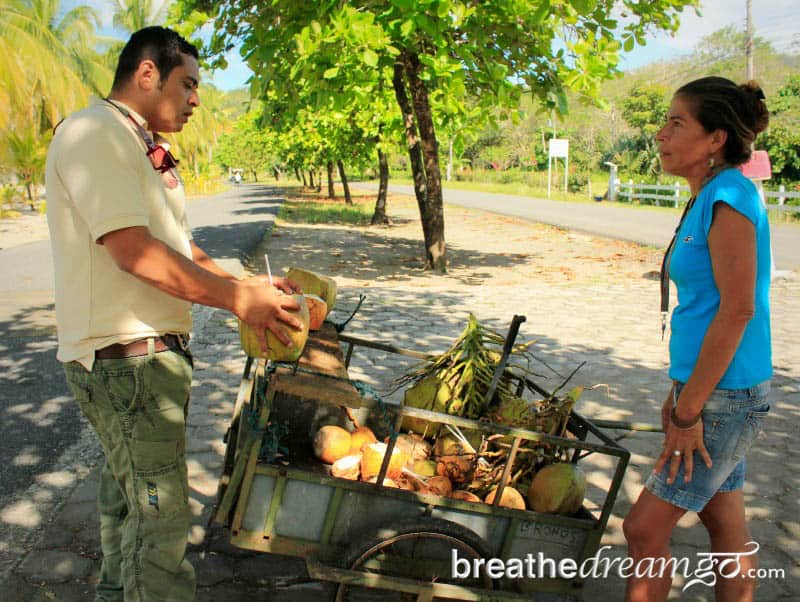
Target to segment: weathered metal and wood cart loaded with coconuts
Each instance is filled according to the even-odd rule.
[[[347,345],[346,359],[341,345]],[[270,365],[248,358],[226,435],[227,450],[214,518],[230,530],[233,545],[248,550],[299,556],[317,580],[337,585],[344,600],[536,600],[580,599],[583,580],[493,578],[486,559],[570,558],[577,565],[597,552],[629,452],[590,421],[572,413],[564,437],[509,428],[362,396],[348,379],[354,351],[371,348],[425,358],[425,354],[379,341],[340,334],[326,323],[312,333],[296,365]],[[558,516],[498,505],[470,503],[438,495],[382,486],[395,439],[389,440],[377,483],[335,478],[311,455],[308,420],[357,412],[378,424],[403,416],[446,423],[513,439],[500,483],[521,442],[535,441],[568,450],[579,462],[606,456],[613,478],[602,503],[574,516]],[[286,418],[288,416],[288,418]],[[299,416],[299,417],[298,417]],[[311,417],[311,418],[309,418]],[[265,444],[276,445],[270,423],[294,421],[288,462],[264,461]],[[304,422],[305,421],[305,422]],[[306,435],[303,436],[303,431]],[[497,492],[499,502],[502,491]],[[540,554],[541,553],[541,557]],[[531,556],[529,556],[531,555]],[[454,577],[454,558],[483,570]],[[467,564],[465,564],[467,563]]]

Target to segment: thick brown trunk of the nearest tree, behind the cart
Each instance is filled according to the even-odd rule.
[[[404,52],[406,76],[411,90],[411,102],[419,126],[422,155],[425,165],[426,202],[422,214],[425,233],[426,268],[447,271],[447,254],[444,242],[444,203],[442,200],[442,172],[439,166],[439,143],[433,126],[430,99],[419,73],[422,64],[415,53]]]

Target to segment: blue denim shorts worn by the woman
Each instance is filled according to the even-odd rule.
[[[677,400],[683,383],[675,383]],[[667,483],[670,463],[645,482],[650,493],[673,506],[700,512],[719,491],[736,491],[744,486],[745,454],[761,432],[769,412],[769,381],[748,389],[715,389],[703,407],[703,442],[711,456],[708,468],[694,452],[692,480],[683,479],[684,463],[672,484]],[[673,403],[674,403],[673,400]]]

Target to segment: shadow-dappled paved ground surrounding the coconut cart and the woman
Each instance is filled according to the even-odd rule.
[[[335,317],[343,318],[358,295],[367,295],[348,332],[419,350],[443,350],[474,313],[504,332],[514,314],[527,316],[522,340],[534,340],[541,360],[562,374],[586,362],[575,384],[598,386],[584,393],[578,411],[589,418],[654,423],[669,388],[666,343],[661,342],[657,270],[660,253],[628,243],[577,235],[510,218],[447,208],[451,269],[447,275],[421,271],[421,233],[413,205],[392,199],[394,225],[347,228],[279,224],[267,241],[273,272],[301,265],[333,275],[340,296]],[[258,256],[258,255],[257,255]],[[256,264],[257,265],[257,264]],[[800,599],[800,522],[795,445],[800,419],[800,280],[776,281],[772,293],[775,378],[772,412],[765,434],[748,459],[745,498],[753,538],[765,569],[782,569],[782,579],[761,581],[758,600]],[[674,304],[674,300],[673,300]],[[236,323],[228,314],[195,312],[197,356],[189,418],[189,475],[195,520],[192,559],[200,600],[320,600],[330,588],[310,581],[301,559],[254,554],[226,543],[225,533],[207,530],[214,503],[227,428],[243,356]],[[359,352],[350,376],[385,388],[409,366],[399,356]],[[558,382],[544,365],[543,384]],[[661,435],[635,433],[623,440],[631,451],[602,543],[609,556],[626,553],[622,518],[637,498],[660,448]],[[611,480],[602,456],[584,461],[598,499]],[[0,589],[3,600],[86,600],[98,571],[94,524],[97,471],[55,513],[46,537]],[[707,551],[696,515],[678,525],[673,554]],[[711,600],[698,585],[682,592],[676,579],[670,599]],[[594,580],[586,600],[621,600],[618,578]]]

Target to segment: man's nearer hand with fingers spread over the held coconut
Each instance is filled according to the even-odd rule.
[[[281,343],[291,347],[292,339],[282,324],[300,330],[302,323],[289,313],[300,306],[291,295],[283,294],[276,287],[256,286],[254,281],[254,278],[248,278],[238,283],[234,313],[256,333],[262,351],[268,351],[267,329]]]

